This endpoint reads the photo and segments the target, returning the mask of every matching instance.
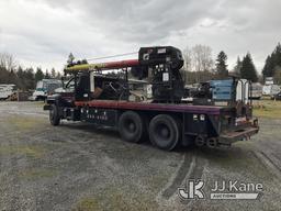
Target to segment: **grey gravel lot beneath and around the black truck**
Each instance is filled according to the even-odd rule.
[[[281,116],[231,148],[121,141],[110,130],[48,123],[38,102],[0,102],[0,210],[280,210]],[[181,200],[187,179],[261,182],[259,200]]]

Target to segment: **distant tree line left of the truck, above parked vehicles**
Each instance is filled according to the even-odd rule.
[[[50,71],[47,69],[43,71],[41,67],[23,68],[16,65],[12,55],[0,54],[0,84],[16,85],[20,90],[27,91],[35,89],[37,81],[50,78],[60,79],[61,75],[55,68],[52,68]]]

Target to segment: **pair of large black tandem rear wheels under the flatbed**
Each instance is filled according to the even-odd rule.
[[[177,146],[181,137],[180,129],[180,121],[167,114],[156,115],[148,125],[147,120],[137,112],[126,111],[119,121],[119,132],[123,140],[139,143],[148,133],[153,145],[165,151],[172,151]]]

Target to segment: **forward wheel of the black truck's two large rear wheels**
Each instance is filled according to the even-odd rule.
[[[119,132],[123,140],[138,143],[142,141],[145,126],[138,113],[133,111],[124,112],[119,120]]]

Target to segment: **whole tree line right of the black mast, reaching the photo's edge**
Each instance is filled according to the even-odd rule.
[[[258,74],[251,54],[248,52],[237,62],[234,68],[227,65],[227,55],[224,51],[217,54],[216,59],[212,57],[212,48],[206,45],[195,45],[183,51],[184,68],[182,74],[187,84],[194,84],[211,79],[222,79],[229,75],[263,82],[265,78],[272,77],[274,82],[281,85],[281,44],[267,57],[261,75]]]

